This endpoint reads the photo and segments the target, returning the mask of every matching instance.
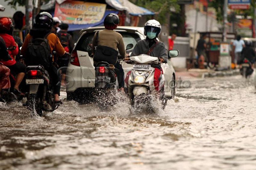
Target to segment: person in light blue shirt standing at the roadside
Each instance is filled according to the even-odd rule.
[[[244,40],[241,40],[241,36],[237,35],[236,40],[233,42],[233,54],[235,56],[234,63],[238,64],[241,60],[241,52],[243,50],[243,47],[245,47]]]

